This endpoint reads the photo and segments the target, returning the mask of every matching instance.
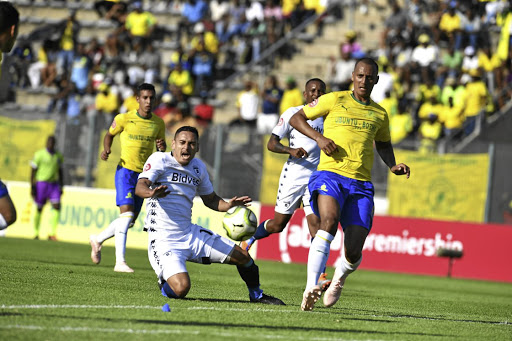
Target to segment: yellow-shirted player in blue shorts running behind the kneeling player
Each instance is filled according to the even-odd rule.
[[[126,233],[139,215],[144,199],[135,195],[137,177],[147,158],[153,153],[156,144],[158,151],[165,151],[165,124],[164,121],[152,113],[155,103],[155,87],[143,83],[137,87],[137,102],[139,109],[119,114],[114,118],[105,138],[101,159],[108,160],[110,147],[114,137],[119,134],[121,142],[121,160],[117,166],[116,204],[119,206],[119,218],[114,220],[100,234],[91,235],[91,259],[99,264],[101,261],[101,245],[115,235],[116,272],[133,272],[125,261]]]

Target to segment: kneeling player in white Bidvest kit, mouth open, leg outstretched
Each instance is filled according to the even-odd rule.
[[[135,194],[149,199],[145,220],[149,233],[148,256],[162,294],[169,298],[187,295],[191,287],[187,261],[224,263],[237,266],[249,289],[250,302],[284,305],[283,301],[260,289],[258,266],[246,250],[192,223],[196,195],[207,207],[219,212],[234,206],[249,206],[252,201],[248,196],[236,196],[228,201],[219,197],[213,190],[205,164],[194,158],[198,151],[197,129],[179,128],[172,141],[172,152],[152,154],[135,188]]]

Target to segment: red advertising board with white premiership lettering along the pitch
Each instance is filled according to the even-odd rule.
[[[274,207],[262,206],[260,217],[271,219],[273,213]],[[331,243],[329,266],[339,261],[342,235],[339,229]],[[436,251],[448,248],[463,251],[462,258],[453,260],[452,277],[512,282],[510,240],[512,228],[505,225],[375,216],[360,268],[447,276],[450,260]],[[307,263],[310,244],[304,212],[298,210],[282,233],[255,246],[259,259]]]

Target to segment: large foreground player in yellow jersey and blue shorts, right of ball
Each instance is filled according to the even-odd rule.
[[[311,175],[308,185],[311,208],[320,217],[320,229],[308,255],[302,310],[312,310],[322,294],[317,281],[329,257],[338,223],[344,232],[345,252],[324,294],[326,307],[338,301],[345,279],[361,263],[374,212],[373,142],[391,172],[410,176],[407,165],[395,162],[388,114],[370,98],[378,80],[377,63],[371,58],[362,58],[352,72],[353,91],[323,95],[290,119],[295,129],[315,140],[322,150],[317,171]],[[308,119],[318,117],[324,118],[323,135],[307,124]]]

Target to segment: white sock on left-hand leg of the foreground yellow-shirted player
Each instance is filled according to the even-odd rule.
[[[309,290],[317,284],[320,274],[324,271],[333,239],[334,236],[324,230],[318,230],[315,238],[313,238],[308,254],[306,290]]]

